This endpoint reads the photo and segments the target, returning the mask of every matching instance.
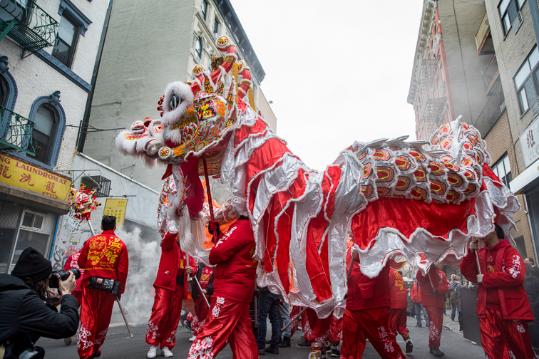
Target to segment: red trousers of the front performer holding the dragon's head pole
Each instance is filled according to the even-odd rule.
[[[215,358],[227,341],[234,359],[257,359],[258,346],[252,333],[249,304],[212,296],[212,310],[191,345],[188,359]]]

